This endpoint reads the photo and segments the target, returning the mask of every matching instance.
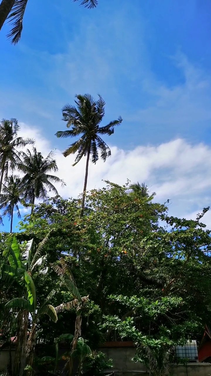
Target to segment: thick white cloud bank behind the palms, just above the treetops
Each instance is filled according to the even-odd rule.
[[[21,135],[36,139],[36,147],[44,156],[52,146],[39,129],[21,126]],[[156,200],[171,200],[170,214],[190,217],[201,211],[211,202],[211,147],[205,144],[189,144],[183,139],[160,144],[158,146],[139,146],[132,150],[111,148],[112,156],[105,163],[90,162],[87,188],[102,187],[103,180],[124,184],[145,181],[151,191],[157,193]],[[74,156],[65,158],[62,151],[56,152],[58,176],[64,179],[66,186],[57,186],[61,196],[77,197],[83,190],[86,159],[75,167]],[[206,215],[211,224],[211,216]]]

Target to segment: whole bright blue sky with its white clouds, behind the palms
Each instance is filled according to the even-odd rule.
[[[63,161],[68,140],[54,133],[65,127],[62,106],[89,92],[105,99],[105,121],[123,118],[106,139],[113,159],[91,167],[89,188],[128,177],[146,180],[162,202],[171,198],[172,214],[209,205],[210,14],[209,0],[99,0],[93,10],[29,0],[16,46],[3,27],[0,116],[23,123],[44,154],[59,149],[60,176],[71,176],[63,196],[81,192],[84,165]]]

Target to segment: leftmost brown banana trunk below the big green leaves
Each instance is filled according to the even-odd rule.
[[[26,367],[26,344],[29,312],[21,311],[18,314],[17,343],[15,347],[14,376],[23,376]]]

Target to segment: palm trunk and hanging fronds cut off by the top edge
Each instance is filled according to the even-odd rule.
[[[23,17],[28,0],[2,0],[0,4],[0,30],[7,19],[12,24],[11,31],[7,35],[12,38],[12,44],[16,44],[21,38],[23,29]],[[80,2],[86,8],[95,8],[98,0],[73,0]]]

